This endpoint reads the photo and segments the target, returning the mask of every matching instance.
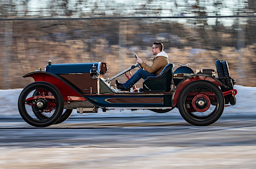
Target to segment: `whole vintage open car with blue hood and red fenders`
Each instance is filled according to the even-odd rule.
[[[105,79],[106,63],[52,64],[49,60],[44,71],[39,68],[23,76],[32,77],[35,82],[22,90],[19,112],[28,124],[46,127],[64,122],[73,109],[79,113],[96,113],[99,108],[103,112],[148,109],[166,113],[176,107],[192,125],[213,124],[225,106],[236,104],[237,90],[228,63],[216,60],[217,73],[213,69],[197,69],[195,73],[188,65],[180,65],[174,71],[175,65],[168,64],[160,75],[145,79],[142,88],[133,87],[126,92],[110,82],[139,64]]]

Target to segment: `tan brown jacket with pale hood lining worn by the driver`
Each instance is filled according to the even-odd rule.
[[[141,67],[145,69],[148,73],[154,73],[156,75],[159,75],[161,71],[163,70],[164,66],[166,66],[169,63],[168,59],[164,56],[157,56],[153,60],[153,65],[148,66],[145,62],[141,63]]]

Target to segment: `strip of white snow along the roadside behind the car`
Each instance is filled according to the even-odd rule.
[[[256,106],[256,87],[244,87],[235,85],[235,89],[238,91],[236,95],[236,105],[225,107],[223,115],[249,115],[255,114]],[[0,118],[1,117],[15,117],[21,118],[18,111],[18,98],[22,89],[0,89]],[[102,112],[99,109],[98,113],[83,113],[79,114],[74,109],[72,116],[82,117],[143,117],[143,116],[180,116],[177,108],[167,113],[155,113],[150,110],[137,110],[131,111],[124,109],[120,112],[120,109],[108,110]]]

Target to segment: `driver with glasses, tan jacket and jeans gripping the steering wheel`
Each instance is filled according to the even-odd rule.
[[[117,89],[123,91],[130,91],[130,88],[137,83],[141,78],[147,79],[149,76],[157,76],[161,73],[163,68],[169,63],[168,55],[163,51],[163,44],[161,42],[154,42],[151,51],[155,56],[153,60],[153,64],[148,66],[145,62],[141,59],[137,58],[137,63],[141,64],[143,69],[137,70],[136,73],[125,83],[120,83],[116,80],[116,87]]]

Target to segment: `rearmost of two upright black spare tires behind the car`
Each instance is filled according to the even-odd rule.
[[[227,61],[222,61],[222,66],[223,66],[223,72],[224,72],[224,77],[227,78],[225,79],[225,85],[229,87],[228,90],[232,90],[234,89],[234,84],[232,82],[232,78],[231,78],[231,75],[230,75],[230,72],[229,72],[229,67],[228,67],[228,63]],[[228,103],[230,103],[231,105],[235,105],[236,104],[236,98],[235,96],[233,97],[231,94],[230,95],[227,95],[225,96],[225,100],[228,100]],[[226,101],[225,101],[225,104],[228,104]]]

